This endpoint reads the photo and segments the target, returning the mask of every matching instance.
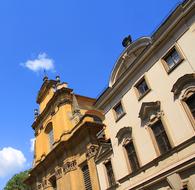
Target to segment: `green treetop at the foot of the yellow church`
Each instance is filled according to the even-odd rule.
[[[4,187],[4,190],[29,190],[29,187],[24,184],[24,180],[28,177],[29,171],[20,172],[14,175]]]

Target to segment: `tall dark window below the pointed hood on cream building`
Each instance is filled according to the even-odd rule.
[[[171,145],[169,143],[167,134],[164,130],[161,120],[153,124],[151,129],[153,131],[160,153],[164,154],[169,151],[171,149]]]

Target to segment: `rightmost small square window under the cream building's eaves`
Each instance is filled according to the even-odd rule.
[[[179,54],[177,49],[173,47],[164,57],[164,66],[167,72],[170,72],[175,66],[182,61],[182,56]]]

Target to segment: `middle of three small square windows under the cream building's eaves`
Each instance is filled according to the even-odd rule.
[[[141,99],[150,90],[144,77],[135,85],[135,88],[139,99]]]

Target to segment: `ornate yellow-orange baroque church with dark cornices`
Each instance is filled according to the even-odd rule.
[[[103,115],[95,99],[74,94],[66,83],[44,78],[35,111],[32,190],[99,189],[94,156]]]

